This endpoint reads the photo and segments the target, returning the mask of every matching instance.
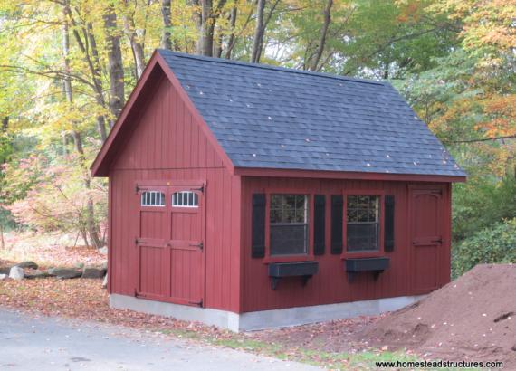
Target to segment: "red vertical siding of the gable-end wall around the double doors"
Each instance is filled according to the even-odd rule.
[[[223,166],[215,147],[199,129],[204,123],[189,112],[166,78],[156,83],[148,98],[110,167],[110,292],[132,296],[138,285],[136,183],[203,180],[205,307],[240,311],[240,177],[232,176]],[[184,289],[191,283],[185,281]],[[153,284],[152,290],[161,287],[160,282]]]

